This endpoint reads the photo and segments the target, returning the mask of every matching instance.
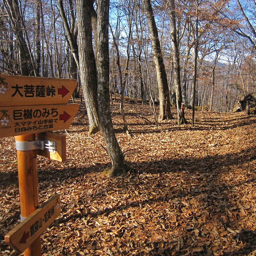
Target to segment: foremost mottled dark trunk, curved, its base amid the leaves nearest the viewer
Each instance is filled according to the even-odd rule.
[[[97,75],[98,75],[98,106],[99,120],[108,154],[111,158],[112,168],[109,177],[125,176],[128,166],[119,147],[109,106],[109,53],[108,53],[108,22],[109,0],[98,2],[97,22]]]

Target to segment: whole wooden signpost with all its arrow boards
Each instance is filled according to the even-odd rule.
[[[37,154],[66,160],[65,135],[78,104],[66,104],[76,87],[74,79],[0,74],[0,138],[15,136],[21,219],[5,242],[24,256],[41,256],[40,234],[60,214],[58,194],[39,207]],[[39,208],[38,208],[39,207]]]

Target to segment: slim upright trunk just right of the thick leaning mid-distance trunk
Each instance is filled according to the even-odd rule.
[[[174,0],[169,0],[170,6],[170,34],[171,34],[171,48],[173,52],[173,81],[176,92],[176,104],[178,110],[178,125],[187,123],[185,116],[181,111],[182,93],[181,93],[181,68],[179,58],[179,47],[176,34],[176,18],[175,18],[175,4]]]

